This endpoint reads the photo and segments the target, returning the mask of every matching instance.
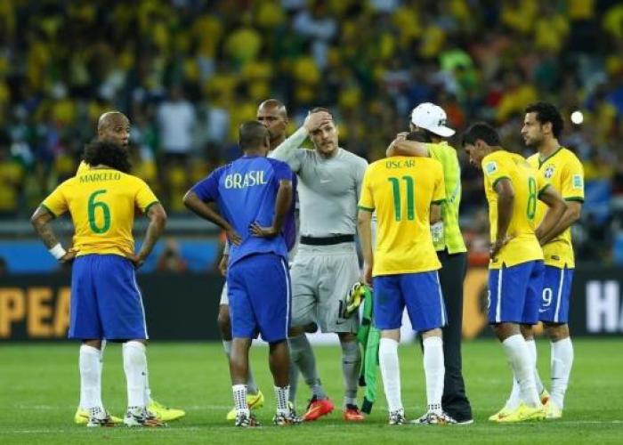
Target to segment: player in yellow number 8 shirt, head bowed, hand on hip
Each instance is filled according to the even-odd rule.
[[[541,420],[534,362],[520,325],[538,322],[543,284],[543,251],[535,231],[548,233],[566,208],[560,195],[520,155],[500,147],[490,125],[472,125],[463,136],[471,162],[481,166],[490,214],[489,322],[504,347],[522,403],[497,422]],[[538,199],[550,207],[535,230]]]

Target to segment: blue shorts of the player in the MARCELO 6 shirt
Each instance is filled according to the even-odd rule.
[[[69,338],[147,339],[134,264],[120,255],[84,255],[71,271]]]

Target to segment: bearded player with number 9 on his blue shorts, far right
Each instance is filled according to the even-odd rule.
[[[571,281],[575,269],[570,225],[578,220],[584,202],[584,169],[576,155],[561,147],[558,142],[562,127],[562,116],[551,103],[537,102],[526,109],[522,127],[523,140],[527,146],[537,150],[537,153],[528,158],[528,162],[567,203],[567,210],[554,229],[549,233],[537,234],[545,256],[545,276],[538,320],[545,325],[552,351],[552,386],[546,403],[547,418],[562,417],[564,393],[567,391],[573,364],[573,345],[567,324]],[[537,223],[542,220],[545,212],[545,206],[538,203]],[[531,332],[526,334],[531,336]],[[536,362],[536,347],[534,351]]]

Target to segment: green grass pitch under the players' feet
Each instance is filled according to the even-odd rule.
[[[379,377],[379,401],[365,423],[346,424],[337,410],[319,421],[291,428],[271,425],[274,393],[267,348],[252,349],[255,376],[266,395],[257,411],[262,428],[234,428],[224,418],[231,386],[221,344],[163,344],[148,350],[156,400],[185,409],[187,416],[166,429],[87,429],[73,424],[78,401],[77,344],[0,345],[0,443],[622,443],[623,339],[576,339],[575,364],[560,421],[492,425],[487,417],[502,407],[510,390],[510,370],[493,339],[464,344],[464,369],[475,423],[469,426],[386,425]],[[329,395],[342,401],[339,347],[316,348]],[[422,355],[401,346],[402,397],[407,416],[424,412]],[[549,345],[538,340],[539,369],[547,380]],[[301,382],[298,409],[308,390]],[[119,416],[125,409],[125,378],[118,344],[106,350],[103,398]]]

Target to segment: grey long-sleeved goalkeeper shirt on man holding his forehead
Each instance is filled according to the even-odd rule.
[[[301,150],[307,138],[297,130],[271,152],[298,175],[301,236],[330,237],[357,233],[357,204],[368,161],[344,149],[333,158],[316,150]]]

